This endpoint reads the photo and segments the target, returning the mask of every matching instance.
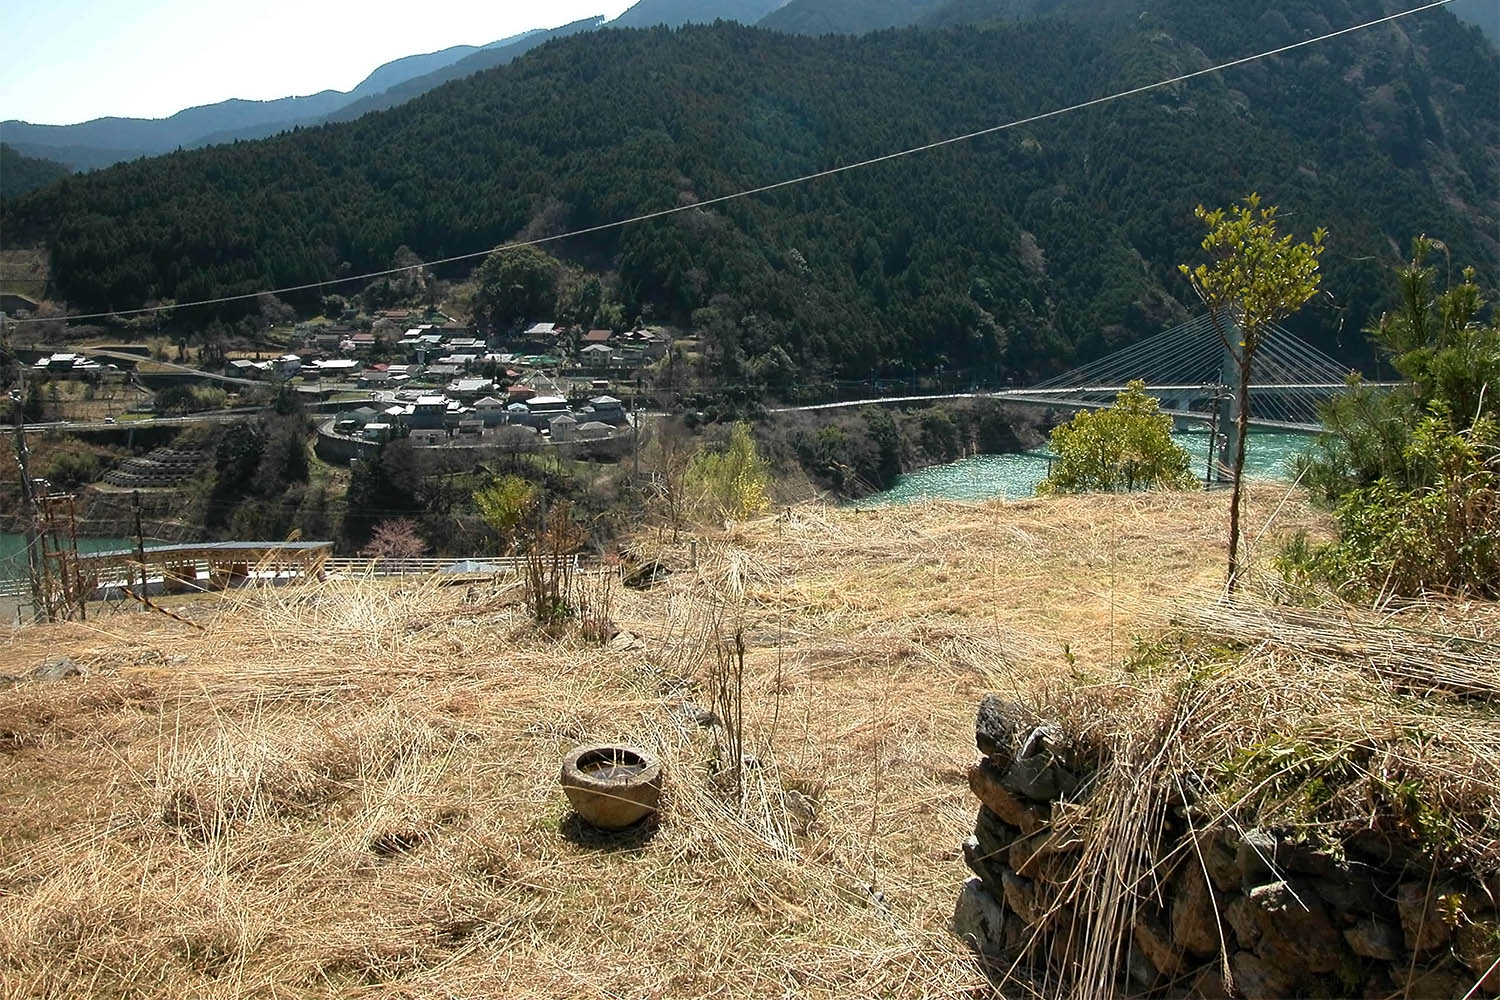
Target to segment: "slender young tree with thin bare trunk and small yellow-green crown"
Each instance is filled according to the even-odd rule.
[[[1323,256],[1322,228],[1311,243],[1276,234],[1276,207],[1260,207],[1251,193],[1242,205],[1209,211],[1198,205],[1194,214],[1208,226],[1203,250],[1208,264],[1180,265],[1192,291],[1208,306],[1214,330],[1234,358],[1239,376],[1234,426],[1234,457],[1230,472],[1234,489],[1228,508],[1230,594],[1239,583],[1239,508],[1245,478],[1245,438],[1250,421],[1250,379],[1266,330],[1286,319],[1317,294],[1318,258]]]

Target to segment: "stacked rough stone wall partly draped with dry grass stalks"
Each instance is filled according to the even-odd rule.
[[[980,802],[963,843],[972,870],[954,930],[998,979],[1077,991],[1080,886],[1088,852],[1107,850],[1088,819],[1089,766],[1058,726],[986,699],[969,769]],[[1184,787],[1196,778],[1182,775]],[[1420,844],[1372,826],[1336,843],[1245,829],[1180,802],[1150,877],[1134,888],[1116,985],[1149,997],[1500,996],[1500,880],[1434,870]],[[1305,834],[1305,832],[1300,832]],[[1311,846],[1317,843],[1317,846]]]

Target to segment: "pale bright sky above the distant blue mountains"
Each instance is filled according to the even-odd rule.
[[[484,45],[630,0],[0,0],[0,120],[160,118],[350,90],[402,55]],[[0,136],[4,138],[4,136]]]

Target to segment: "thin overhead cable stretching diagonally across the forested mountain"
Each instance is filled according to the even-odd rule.
[[[1434,0],[1432,3],[1425,3],[1419,7],[1412,7],[1410,10],[1400,10],[1396,13],[1388,13],[1386,16],[1376,18],[1372,21],[1365,21],[1362,24],[1354,24],[1346,28],[1338,28],[1336,31],[1326,31],[1314,37],[1302,39],[1300,42],[1292,42],[1290,45],[1281,45],[1278,48],[1266,49],[1264,52],[1256,52],[1254,55],[1244,55],[1240,58],[1233,58],[1227,63],[1216,63],[1204,69],[1196,69],[1190,73],[1179,73],[1168,79],[1160,79],[1154,84],[1144,84],[1142,87],[1131,87],[1130,90],[1120,90],[1102,97],[1092,97],[1089,100],[1082,100],[1078,103],[1066,105],[1064,108],[1054,108],[1052,111],[1044,111],[1041,114],[1034,114],[1029,118],[1017,118],[1014,121],[1006,121],[1004,124],[993,124],[975,132],[964,132],[962,135],[954,135],[946,139],[938,139],[934,142],[926,142],[922,145],[914,145],[910,148],[897,150],[896,153],[884,153],[880,156],[872,156],[868,159],[855,160],[852,163],[843,163],[840,166],[830,166],[828,169],[814,171],[812,174],[802,174],[800,177],[790,177],[786,180],[772,181],[770,184],[760,184],[759,187],[747,187],[744,190],[736,190],[732,195],[718,195],[717,198],[708,198],[704,201],[696,201],[687,205],[674,205],[670,208],[660,208],[657,211],[646,211],[638,216],[630,216],[627,219],[616,219],[614,222],[603,222],[594,226],[584,226],[582,229],[570,229],[568,232],[560,232],[556,235],[537,237],[534,240],[516,240],[513,243],[502,243],[500,246],[490,247],[488,250],[474,250],[472,253],[458,253],[454,256],[446,256],[436,261],[423,261],[422,264],[410,264],[406,267],[390,267],[382,271],[369,271],[364,274],[350,274],[346,277],[330,277],[321,282],[308,282],[304,285],[286,285],[284,288],[267,288],[255,292],[240,292],[236,295],[219,295],[216,298],[200,298],[186,303],[172,303],[171,306],[142,306],[141,309],[116,309],[110,312],[92,312],[75,316],[52,316],[45,319],[12,319],[12,324],[32,324],[32,322],[56,322],[57,319],[108,319],[111,316],[136,316],[142,313],[166,312],[170,309],[192,309],[198,306],[219,306],[231,301],[244,301],[249,298],[258,298],[260,295],[284,295],[288,292],[310,291],[315,288],[328,288],[330,285],[346,285],[350,282],[368,282],[376,277],[388,277],[392,274],[404,274],[406,271],[422,270],[424,267],[440,267],[442,264],[458,264],[460,261],[472,261],[483,256],[490,256],[494,253],[504,253],[506,250],[519,250],[528,246],[542,246],[546,243],[558,243],[561,240],[570,240],[573,237],[591,235],[594,232],[604,232],[608,229],[620,229],[630,225],[639,225],[642,222],[651,222],[654,219],[664,219],[668,216],[681,214],[684,211],[696,211],[702,208],[710,208],[712,205],[722,205],[730,201],[741,201],[744,198],[753,198],[756,195],[764,195],[772,190],[780,190],[783,187],[792,187],[795,184],[806,184],[808,181],[822,180],[825,177],[834,177],[836,174],[846,174],[849,171],[864,169],[867,166],[876,166],[878,163],[886,163],[890,160],[903,159],[908,156],[916,156],[918,153],[930,153],[932,150],[942,148],[945,145],[956,145],[958,142],[969,142],[972,139],[984,138],[987,135],[994,135],[998,132],[1005,132],[1006,129],[1016,129],[1026,124],[1035,124],[1038,121],[1046,121],[1048,118],[1058,118],[1074,111],[1084,111],[1088,108],[1096,108],[1100,105],[1112,103],[1114,100],[1124,100],[1125,97],[1134,97],[1137,94],[1149,93],[1152,90],[1161,90],[1162,87],[1172,87],[1173,84],[1180,84],[1190,79],[1197,79],[1198,76],[1208,76],[1210,73],[1220,73],[1226,69],[1234,69],[1236,66],[1245,66],[1248,63],[1256,63],[1263,58],[1270,58],[1274,55],[1282,55],[1293,49],[1306,48],[1310,45],[1318,45],[1330,39],[1352,34],[1354,31],[1364,31],[1366,28],[1378,27],[1400,18],[1412,16],[1413,13],[1422,13],[1424,10],[1432,10],[1440,7],[1450,0]]]

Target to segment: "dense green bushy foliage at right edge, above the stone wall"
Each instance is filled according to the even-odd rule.
[[[1500,316],[1466,270],[1437,291],[1419,238],[1398,270],[1400,309],[1370,334],[1402,385],[1356,385],[1324,411],[1302,478],[1332,504],[1338,538],[1282,550],[1288,580],[1346,597],[1500,597]]]

